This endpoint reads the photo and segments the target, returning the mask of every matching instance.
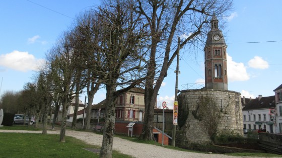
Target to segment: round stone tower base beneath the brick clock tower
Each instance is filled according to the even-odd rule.
[[[207,103],[204,111],[201,111],[201,114],[205,116],[197,113],[199,108],[203,107],[201,101],[203,98],[214,101],[213,104]],[[212,141],[212,136],[205,128],[206,125],[201,122],[204,120],[203,117],[210,117],[209,114],[212,115],[212,111],[219,116],[216,135],[221,133],[243,135],[241,96],[238,92],[213,89],[184,90],[178,95],[178,106],[178,128],[183,136],[182,142],[179,143],[182,145],[208,144]],[[212,119],[210,123],[213,123]]]

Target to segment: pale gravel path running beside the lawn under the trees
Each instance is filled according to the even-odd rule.
[[[42,133],[42,131],[1,130],[1,129],[0,132]],[[59,129],[47,130],[47,133],[59,134],[60,130]],[[66,130],[66,135],[81,139],[88,144],[100,145],[100,146],[102,145],[103,136],[93,132]],[[173,149],[167,149],[157,145],[136,143],[118,137],[114,137],[113,149],[137,158],[138,157],[140,158],[143,157],[179,157],[179,158],[180,157],[215,157],[215,158],[236,157],[236,156],[228,156],[224,154],[208,154],[208,153],[178,151]]]

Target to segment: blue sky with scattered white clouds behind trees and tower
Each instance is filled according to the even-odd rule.
[[[7,91],[23,90],[26,83],[32,82],[37,65],[44,61],[45,53],[59,35],[72,26],[76,16],[99,4],[94,0],[0,1],[0,96]],[[228,90],[241,93],[241,97],[273,96],[273,90],[282,84],[280,6],[279,0],[234,1],[226,19],[222,31],[228,45]],[[175,69],[176,60],[158,93],[160,107],[163,101],[169,109],[173,107]],[[195,55],[181,49],[179,70],[178,89],[204,83],[203,51]],[[106,91],[100,89],[94,104],[105,96]],[[82,94],[82,101],[84,97]]]

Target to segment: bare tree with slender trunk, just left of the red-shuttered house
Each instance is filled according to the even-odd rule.
[[[94,95],[98,91],[101,82],[98,80],[95,70],[97,59],[97,48],[99,32],[99,22],[95,11],[89,10],[77,19],[77,26],[74,29],[74,43],[77,51],[81,53],[80,65],[78,67],[84,70],[82,78],[85,81],[86,92],[88,96],[87,118],[85,129],[90,128],[91,109]],[[96,63],[97,64],[97,63]],[[102,64],[102,63],[101,63]]]

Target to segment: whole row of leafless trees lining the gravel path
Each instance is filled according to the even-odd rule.
[[[94,95],[99,88],[105,88],[100,157],[111,157],[114,101],[121,92],[116,90],[136,86],[145,88],[144,126],[139,138],[153,140],[154,105],[176,56],[176,39],[181,37],[180,47],[199,47],[212,16],[221,19],[231,7],[231,0],[110,0],[78,16],[75,25],[47,53],[46,64],[37,77],[42,111],[48,111],[52,102],[62,104],[60,141],[65,141],[70,101],[87,92],[88,129]]]

